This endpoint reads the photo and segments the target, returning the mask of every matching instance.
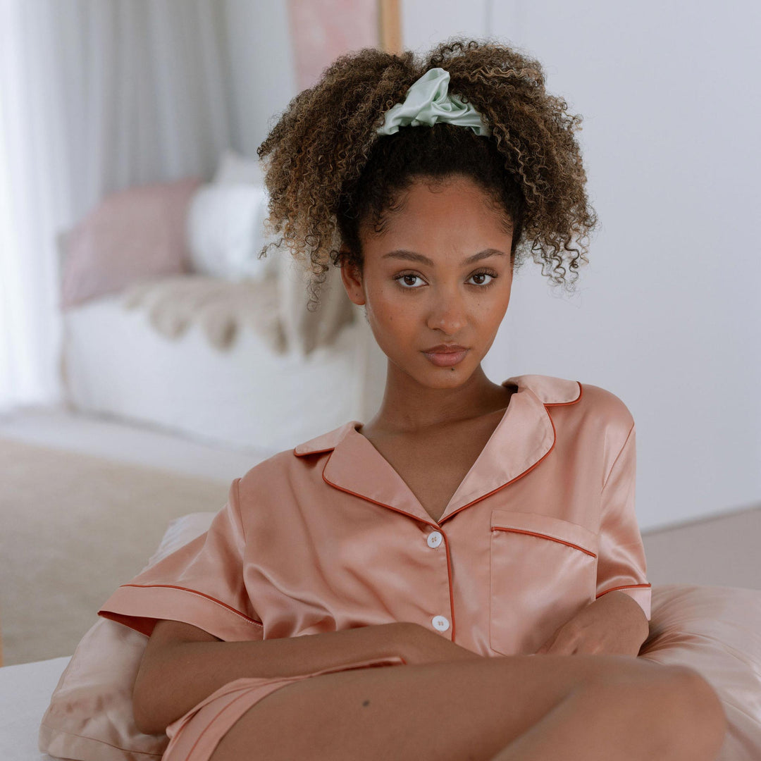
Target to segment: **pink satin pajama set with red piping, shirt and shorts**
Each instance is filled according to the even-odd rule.
[[[438,521],[350,421],[235,479],[209,531],[100,615],[146,635],[157,619],[183,621],[225,641],[413,621],[487,656],[535,652],[613,590],[649,619],[629,409],[575,380],[503,385],[517,391]],[[229,683],[170,724],[164,759],[208,759],[254,703],[317,673]]]

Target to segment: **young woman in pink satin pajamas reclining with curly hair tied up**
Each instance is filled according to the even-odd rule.
[[[521,257],[568,286],[586,260],[565,108],[505,46],[364,49],[260,146],[272,228],[314,297],[341,267],[386,389],[235,479],[208,533],[100,610],[150,636],[135,719],[166,761],[715,759],[713,690],[635,658],[629,410],[481,367]]]

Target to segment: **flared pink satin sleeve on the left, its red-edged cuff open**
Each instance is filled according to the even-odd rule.
[[[98,615],[148,636],[158,619],[170,619],[228,642],[262,639],[244,583],[239,482],[232,482],[227,503],[206,533],[118,587]]]

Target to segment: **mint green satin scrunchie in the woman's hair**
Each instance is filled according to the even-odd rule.
[[[378,135],[393,135],[400,127],[434,126],[447,122],[470,127],[476,135],[489,137],[492,130],[484,123],[481,114],[470,103],[463,103],[455,94],[448,94],[449,72],[444,68],[429,68],[406,92],[403,103],[387,110]]]

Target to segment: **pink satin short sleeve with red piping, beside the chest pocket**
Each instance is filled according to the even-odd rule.
[[[635,425],[603,484],[597,597],[620,590],[639,603],[650,620],[650,594],[645,572],[645,547],[635,514]]]

